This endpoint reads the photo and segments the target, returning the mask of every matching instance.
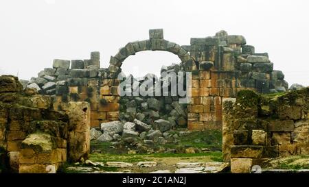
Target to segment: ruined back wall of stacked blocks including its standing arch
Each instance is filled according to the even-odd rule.
[[[117,75],[121,73],[122,62],[139,51],[169,51],[178,55],[181,63],[174,65],[177,68],[164,66],[162,71],[192,72],[192,88],[187,90],[192,100],[180,110],[178,102],[171,105],[171,101],[179,98],[155,99],[163,106],[169,105],[163,112],[169,114],[174,110],[174,117],[167,116],[166,120],[187,125],[188,129],[220,129],[222,99],[236,97],[240,90],[270,93],[288,88],[282,71],[273,70],[268,53],[255,53],[253,46],[246,45],[243,36],[220,31],[212,37],[191,38],[190,45],[186,46],[163,39],[163,29],[150,29],[149,36],[149,40],[129,42],[119,49],[111,56],[108,68],[100,68],[100,53],[92,52],[90,60],[54,60],[53,68],[45,68],[25,84],[42,94],[53,95],[55,110],[66,110],[69,101],[89,102],[91,126],[97,127],[100,123],[119,119]],[[155,81],[163,84],[163,79]],[[141,82],[137,84],[140,86]],[[149,98],[141,99],[144,99],[141,103],[148,103]],[[158,110],[152,108],[144,115],[156,116]]]

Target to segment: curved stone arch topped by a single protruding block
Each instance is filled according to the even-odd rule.
[[[181,60],[181,66],[185,71],[196,70],[196,63],[188,51],[180,45],[163,39],[163,29],[150,29],[149,39],[136,42],[128,42],[127,45],[120,48],[115,56],[111,56],[108,71],[111,75],[116,75],[120,71],[122,62],[130,55],[135,55],[140,51],[168,51],[178,55]]]

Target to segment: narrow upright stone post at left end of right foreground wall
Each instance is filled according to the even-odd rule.
[[[229,162],[231,160],[231,146],[233,145],[233,125],[229,121],[229,112],[233,110],[236,98],[222,99],[222,153],[223,160]]]

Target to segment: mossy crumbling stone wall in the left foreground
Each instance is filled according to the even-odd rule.
[[[52,97],[38,95],[36,89],[26,88],[17,77],[0,76],[0,157],[3,172],[55,173],[67,161],[67,151],[74,147],[84,155],[89,152],[89,143],[72,142],[80,133],[88,135],[87,116],[71,116],[53,110]],[[87,108],[88,103],[80,110]],[[69,111],[71,107],[69,106]],[[74,119],[83,119],[80,121]],[[82,135],[77,138],[83,137]],[[76,148],[88,145],[87,149]],[[76,160],[73,160],[76,161]],[[4,162],[4,163],[2,163]]]

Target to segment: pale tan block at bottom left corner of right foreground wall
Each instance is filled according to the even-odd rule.
[[[231,173],[251,173],[252,158],[231,158]]]

